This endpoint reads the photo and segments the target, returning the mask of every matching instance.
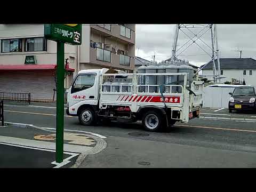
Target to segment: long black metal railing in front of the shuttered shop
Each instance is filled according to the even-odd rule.
[[[0,92],[0,100],[9,102],[23,102],[30,105],[30,93],[8,93]]]

